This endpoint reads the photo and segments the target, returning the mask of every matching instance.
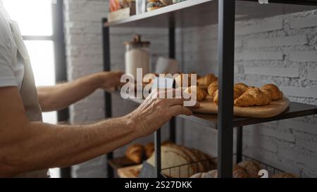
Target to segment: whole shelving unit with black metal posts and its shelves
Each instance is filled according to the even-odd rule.
[[[235,20],[263,18],[273,15],[309,11],[317,8],[317,0],[269,0],[269,4],[259,4],[257,0],[187,0],[179,4],[159,8],[156,11],[133,15],[130,18],[104,24],[104,70],[111,70],[109,27],[167,27],[169,28],[169,53],[175,57],[175,27],[194,27],[218,23],[218,115],[194,114],[191,117],[180,115],[206,127],[218,129],[218,176],[232,177],[233,128],[237,127],[236,161],[242,160],[243,126],[293,117],[317,114],[317,106],[290,103],[290,108],[281,115],[265,118],[233,117],[233,83],[235,55]],[[111,95],[105,94],[106,117],[112,116]],[[142,99],[130,99],[142,103]],[[170,139],[175,141],[175,119],[170,122]],[[155,134],[156,176],[161,177],[161,132]],[[108,159],[113,153],[108,153]],[[108,165],[108,177],[113,177],[113,168]]]

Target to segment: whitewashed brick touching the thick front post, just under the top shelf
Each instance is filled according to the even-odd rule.
[[[273,30],[282,30],[283,21],[282,20],[265,20],[259,23],[255,23],[254,25],[237,27],[235,30],[235,34],[251,34],[251,33],[259,33],[259,32],[269,32]]]

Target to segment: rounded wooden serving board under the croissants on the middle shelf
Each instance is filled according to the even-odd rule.
[[[218,105],[211,101],[211,98],[206,98],[206,100],[199,102],[199,108],[192,108],[194,113],[204,113],[204,114],[218,114]],[[282,98],[278,101],[272,101],[270,105],[255,106],[255,107],[234,107],[234,115],[237,117],[250,117],[250,118],[268,118],[280,115],[290,105],[290,100],[288,98]]]

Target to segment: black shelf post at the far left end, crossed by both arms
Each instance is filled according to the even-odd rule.
[[[111,63],[110,63],[110,33],[109,27],[104,26],[104,23],[108,21],[107,18],[102,20],[102,34],[103,34],[103,46],[104,46],[104,71],[111,70]],[[105,115],[106,118],[112,117],[112,98],[111,94],[105,91],[104,93],[104,103],[105,103]],[[113,159],[113,152],[109,152],[106,155],[106,163],[107,163],[107,177],[113,178],[113,168],[108,164],[108,160]]]

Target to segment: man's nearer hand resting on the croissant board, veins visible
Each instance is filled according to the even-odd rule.
[[[175,93],[175,90],[170,91]],[[163,92],[166,95],[168,91]],[[135,123],[135,129],[139,136],[153,134],[172,117],[192,115],[192,111],[183,106],[183,98],[159,98],[159,94],[162,92],[152,91],[139,108],[127,116]]]

